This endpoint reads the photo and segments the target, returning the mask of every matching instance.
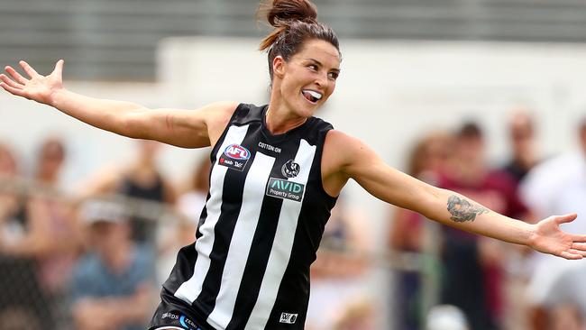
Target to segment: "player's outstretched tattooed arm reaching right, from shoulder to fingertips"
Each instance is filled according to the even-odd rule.
[[[333,155],[328,150],[338,152]],[[536,251],[565,259],[586,257],[586,235],[568,234],[559,227],[574,220],[575,214],[550,216],[535,225],[500,215],[468,197],[435,188],[392,169],[363,142],[338,131],[327,135],[324,157],[328,156],[331,159],[327,160],[324,170],[336,169],[335,173],[341,179],[332,180],[330,178],[333,176],[325,173],[326,191],[338,188],[335,184],[328,188],[331,182],[354,179],[372,196],[413,210],[444,225],[508,243],[524,244]]]

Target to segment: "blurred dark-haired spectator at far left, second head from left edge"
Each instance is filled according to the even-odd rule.
[[[72,208],[59,196],[60,171],[65,147],[59,139],[41,144],[35,179],[26,206],[26,231],[19,239],[5,242],[1,249],[16,258],[32,258],[43,294],[40,300],[50,315],[43,322],[48,328],[67,322],[62,310],[65,284],[79,252],[79,231]]]

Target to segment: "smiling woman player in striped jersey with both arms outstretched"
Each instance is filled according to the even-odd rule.
[[[62,85],[63,60],[46,77],[6,67],[8,92],[51,105],[98,128],[185,148],[213,146],[210,191],[197,242],[181,249],[152,329],[303,329],[309,265],[329,211],[349,179],[374,197],[476,234],[566,259],[586,255],[585,235],[529,225],[386,165],[361,141],[313,115],[334,92],[341,53],[308,0],[273,0],[270,104],[219,102],[195,111],[147,109],[96,99]],[[232,63],[231,65],[237,65]]]

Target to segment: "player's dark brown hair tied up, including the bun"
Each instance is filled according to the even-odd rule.
[[[340,52],[334,30],[317,22],[317,8],[308,0],[269,0],[261,3],[257,17],[265,16],[275,29],[261,41],[260,50],[268,50],[270,80],[272,61],[277,56],[285,60],[298,53],[304,41],[328,41]]]

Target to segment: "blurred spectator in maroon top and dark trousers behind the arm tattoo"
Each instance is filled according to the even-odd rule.
[[[440,186],[472,196],[500,214],[525,216],[514,179],[487,166],[481,128],[464,124],[456,140],[452,169],[444,173]],[[474,330],[499,329],[505,303],[502,245],[451,227],[443,232],[442,303],[461,308]]]

